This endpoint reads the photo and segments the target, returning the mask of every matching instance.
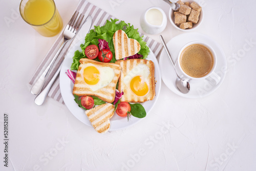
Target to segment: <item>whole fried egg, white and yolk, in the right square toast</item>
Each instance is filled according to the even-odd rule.
[[[127,73],[123,78],[123,82],[127,87],[130,87],[134,94],[137,96],[144,96],[148,92],[149,75],[150,68],[145,64],[139,64]]]

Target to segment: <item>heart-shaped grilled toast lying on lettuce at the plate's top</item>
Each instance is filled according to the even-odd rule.
[[[128,38],[123,30],[117,30],[113,35],[116,59],[122,59],[137,54],[140,44],[133,38]]]

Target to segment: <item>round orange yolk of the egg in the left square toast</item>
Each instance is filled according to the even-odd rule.
[[[94,85],[99,82],[99,70],[96,67],[89,66],[83,70],[83,78],[86,83]]]

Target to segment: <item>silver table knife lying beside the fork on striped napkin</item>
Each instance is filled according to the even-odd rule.
[[[79,29],[78,33],[83,33],[83,36],[87,33],[89,33],[90,29],[92,26],[92,16],[88,16],[86,18],[86,20],[84,21],[84,23],[82,24],[81,28]],[[81,35],[81,34],[80,34]],[[62,66],[62,62],[64,60],[65,56],[62,58],[62,61],[56,71],[56,73],[53,75],[52,79],[49,81],[49,83],[47,84],[47,86],[45,87],[44,90],[42,90],[35,98],[35,103],[37,105],[42,105],[42,103],[45,102],[46,96],[48,95],[53,83],[56,81],[56,79],[59,76],[59,72]]]

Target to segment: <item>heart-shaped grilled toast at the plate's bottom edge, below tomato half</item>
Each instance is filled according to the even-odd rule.
[[[86,111],[86,116],[98,133],[105,133],[110,129],[110,118],[114,112],[114,105],[105,103]]]

